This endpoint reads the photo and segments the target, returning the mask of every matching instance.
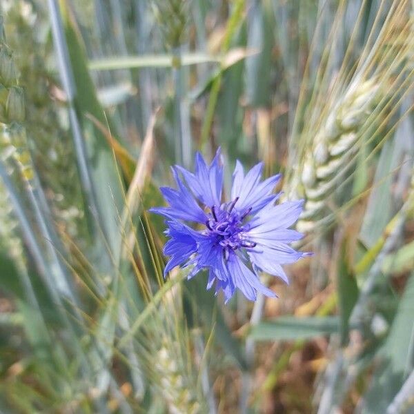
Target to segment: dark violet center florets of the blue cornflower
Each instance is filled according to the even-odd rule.
[[[230,249],[237,250],[238,248],[253,248],[256,246],[255,242],[250,242],[245,237],[245,230],[243,220],[250,214],[252,210],[249,207],[242,215],[233,211],[235,204],[239,197],[236,197],[223,210],[212,206],[211,216],[206,221],[208,233],[215,237],[215,244],[219,244],[224,250],[224,257],[227,259]]]

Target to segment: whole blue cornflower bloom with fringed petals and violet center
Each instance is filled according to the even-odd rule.
[[[273,189],[281,175],[261,181],[262,169],[263,163],[259,163],[244,175],[237,161],[230,201],[223,202],[219,150],[210,166],[197,153],[194,174],[181,166],[172,168],[177,189],[160,188],[170,206],[150,210],[167,218],[165,233],[170,239],[164,254],[170,260],[164,276],[176,266],[192,265],[188,279],[208,269],[207,288],[215,284],[216,295],[223,290],[226,302],[236,288],[250,300],[256,299],[257,292],[276,297],[259,282],[257,273],[262,270],[288,283],[281,264],[308,255],[288,246],[302,238],[302,233],[288,227],[297,221],[303,201],[276,205],[281,193],[275,194]],[[195,228],[186,222],[195,223]]]

